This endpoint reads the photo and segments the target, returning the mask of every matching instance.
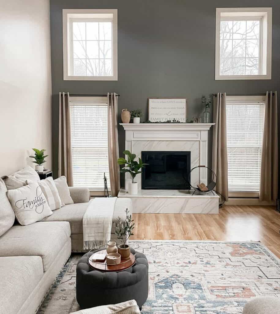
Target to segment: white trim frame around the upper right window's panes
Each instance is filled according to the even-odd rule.
[[[221,14],[227,16],[221,17]],[[234,18],[236,13],[244,18],[262,18],[262,51],[260,57],[266,55],[266,62],[262,68],[266,68],[267,74],[262,75],[220,75],[220,21],[228,17]],[[252,15],[252,13],[254,15]],[[272,8],[216,8],[216,47],[215,47],[215,80],[247,80],[247,79],[271,79],[271,50],[272,50]]]

